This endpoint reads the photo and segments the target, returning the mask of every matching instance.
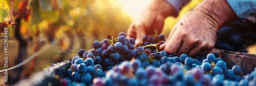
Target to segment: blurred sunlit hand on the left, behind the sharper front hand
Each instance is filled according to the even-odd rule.
[[[155,35],[162,32],[164,18],[177,14],[174,7],[165,0],[152,0],[152,2],[133,21],[127,31],[127,38],[135,38],[136,45],[145,35]]]

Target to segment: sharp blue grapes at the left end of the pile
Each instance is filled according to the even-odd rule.
[[[79,50],[79,51],[83,51],[83,50]],[[79,51],[78,51],[78,55],[79,55]],[[94,64],[94,60],[92,58],[87,58],[84,60],[79,57],[74,57],[71,63],[72,65],[67,72],[68,77],[64,79],[65,85],[72,85],[72,84],[92,85],[93,78],[104,77],[106,74],[105,72],[102,71],[101,65]]]

